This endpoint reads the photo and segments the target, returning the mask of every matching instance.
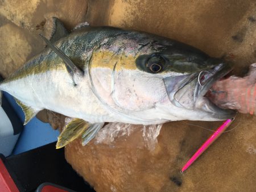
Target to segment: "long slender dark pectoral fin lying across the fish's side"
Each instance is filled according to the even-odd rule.
[[[79,74],[79,76],[83,76],[84,72],[79,69],[69,58],[65,53],[63,53],[58,47],[56,47],[54,44],[52,44],[46,37],[44,37],[42,34],[39,34],[42,39],[46,42],[46,44],[49,46],[49,48],[52,49],[53,52],[57,54],[63,61],[64,64],[68,70],[69,75],[71,76],[74,85],[77,85],[77,82],[75,80],[75,74]]]

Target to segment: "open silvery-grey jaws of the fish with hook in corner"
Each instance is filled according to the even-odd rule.
[[[205,97],[205,94],[216,81],[226,76],[231,70],[232,68],[228,64],[218,64],[209,70],[166,77],[163,81],[168,97],[176,107],[204,111],[211,119],[225,120],[233,118],[237,112],[217,107]]]

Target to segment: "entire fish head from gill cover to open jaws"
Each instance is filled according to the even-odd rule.
[[[97,52],[94,63],[98,66],[104,61],[110,72],[95,75],[101,82],[96,89],[99,94],[106,93],[101,99],[121,113],[166,121],[225,120],[236,114],[204,97],[232,68],[199,49],[163,37],[131,33],[108,39]]]

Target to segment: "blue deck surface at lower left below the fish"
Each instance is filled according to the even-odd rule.
[[[25,116],[22,108],[16,104],[11,95],[7,93],[4,93],[4,95],[14,108],[20,120],[24,122]],[[14,148],[13,155],[52,143],[53,141],[57,140],[57,136],[59,136],[59,131],[53,130],[49,123],[43,123],[35,117],[28,122],[26,126],[24,126],[24,129],[20,134],[19,140]]]

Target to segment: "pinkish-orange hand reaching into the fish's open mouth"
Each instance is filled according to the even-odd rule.
[[[256,63],[246,77],[231,76],[216,82],[207,97],[218,107],[256,115]]]

